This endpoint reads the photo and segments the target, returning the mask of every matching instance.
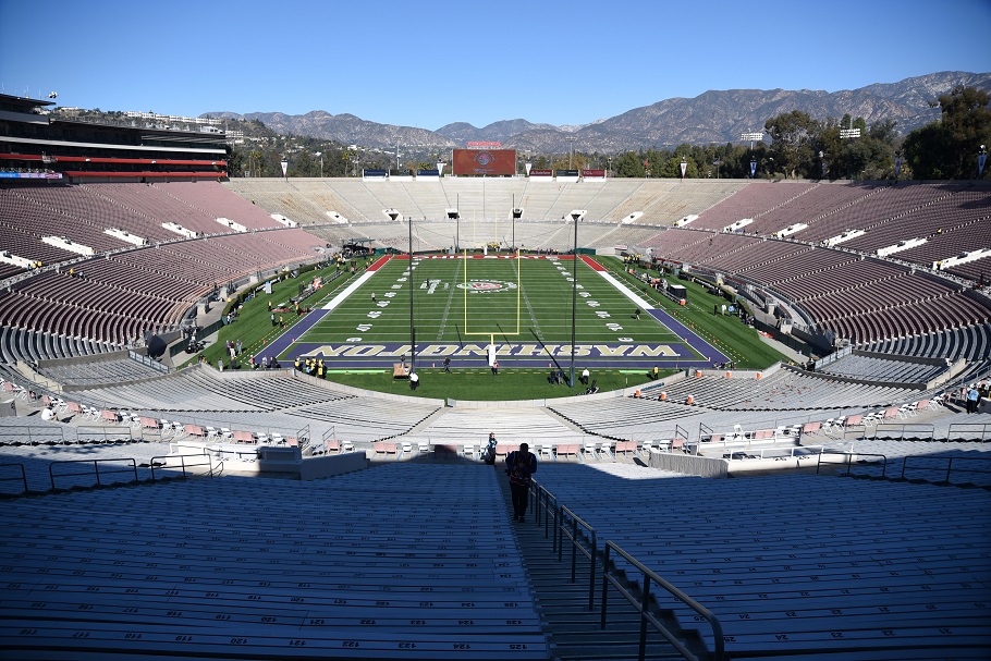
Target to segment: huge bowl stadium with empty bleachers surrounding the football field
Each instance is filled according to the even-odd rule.
[[[986,181],[231,179],[49,105],[0,96],[4,658],[987,658]]]

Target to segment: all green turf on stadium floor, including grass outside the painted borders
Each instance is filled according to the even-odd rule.
[[[724,299],[704,287],[680,281],[688,286],[689,303],[678,306],[625,273],[620,259],[600,257],[597,261],[650,306],[664,309],[732,358],[737,367],[763,368],[782,359],[758,339],[754,329],[735,317],[713,315],[713,305]],[[271,296],[261,295],[242,306],[237,321],[220,330],[217,342],[207,347],[204,356],[215,365],[224,341],[237,338],[245,346],[242,368],[246,356],[264,352],[278,353],[283,366],[296,355],[322,352],[330,380],[413,394],[405,380],[393,380],[391,369],[404,353],[408,359],[412,283],[417,371],[421,377],[417,396],[525,400],[584,392],[580,384],[572,389],[550,384],[547,379],[549,365],[562,368],[566,375],[571,365],[573,260],[436,258],[417,259],[414,265],[411,273],[408,260],[390,259],[374,273],[364,274],[359,286],[360,269],[329,283],[306,305],[316,310],[335,302],[333,309],[305,331],[303,328],[313,318],[294,314],[284,315],[284,329],[272,328],[268,302],[277,306],[286,302],[297,292],[299,282],[321,272],[276,283]],[[322,274],[332,272],[334,269],[327,269]],[[589,354],[583,355],[583,346],[669,346],[682,355],[701,358],[677,333],[650,315],[635,319],[634,302],[580,260],[577,284],[576,371],[592,363],[586,357]],[[502,350],[512,346],[516,352],[500,354],[498,377],[491,374],[486,357],[490,340]],[[452,357],[453,374],[442,374],[444,355]],[[657,362],[664,375],[681,369],[680,360],[649,354],[632,360],[607,357],[590,369],[600,390],[608,391],[648,381],[645,365]]]

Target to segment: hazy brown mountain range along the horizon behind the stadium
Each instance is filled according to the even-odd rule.
[[[896,130],[907,134],[938,119],[940,109],[930,107],[930,102],[956,85],[991,93],[991,73],[941,72],[832,93],[816,89],[710,90],[692,99],[665,99],[634,108],[580,126],[535,124],[515,119],[480,128],[455,122],[430,131],[378,124],[353,114],[330,114],[323,110],[296,115],[222,111],[204,113],[204,117],[259,120],[280,134],[374,149],[392,149],[399,145],[401,150],[415,154],[464,147],[469,140],[499,142],[503,147],[533,154],[563,154],[572,147],[576,151],[614,154],[675,147],[683,143],[738,142],[741,133],[761,131],[767,120],[792,110],[805,111],[820,120],[845,114],[862,117],[868,125],[879,120],[895,120]]]

